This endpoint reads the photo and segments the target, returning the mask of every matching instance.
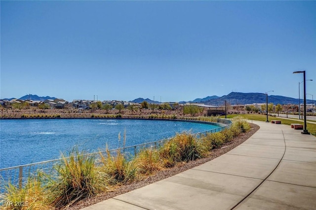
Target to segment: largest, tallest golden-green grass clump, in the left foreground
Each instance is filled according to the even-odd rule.
[[[95,161],[95,156],[85,156],[78,148],[74,148],[68,158],[63,155],[54,166],[58,176],[48,176],[49,201],[54,207],[64,208],[109,189],[109,176],[96,167]]]

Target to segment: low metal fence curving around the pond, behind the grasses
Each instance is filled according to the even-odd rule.
[[[185,120],[185,121],[220,125],[220,127],[218,127],[218,128],[194,134],[197,137],[200,137],[202,135],[206,135],[208,133],[219,132],[221,130],[229,128],[232,124],[232,121],[227,120],[227,119],[218,119],[217,123],[197,121],[197,120]],[[172,138],[165,139],[165,140],[158,140],[158,141],[154,141],[154,142],[143,143],[143,144],[137,144],[137,145],[133,145],[133,146],[126,146],[123,148],[111,149],[111,150],[109,150],[109,152],[111,155],[115,156],[119,150],[120,153],[124,154],[124,156],[126,158],[132,158],[133,156],[136,156],[137,153],[139,153],[141,150],[143,150],[145,148],[153,148],[153,149],[159,148],[166,141],[169,141],[171,139]],[[99,155],[100,153],[104,157],[107,157],[107,151],[99,151],[99,152],[88,153],[88,154],[84,154],[84,155],[87,155],[87,156]],[[0,169],[0,192],[1,193],[4,192],[4,187],[7,186],[8,183],[16,184],[16,185],[19,185],[20,187],[22,187],[22,183],[24,183],[28,177],[32,176],[33,174],[36,174],[38,171],[42,171],[46,174],[53,175],[54,173],[56,173],[56,171],[54,171],[53,166],[55,164],[57,164],[58,162],[60,162],[61,160],[62,160],[62,158]]]

